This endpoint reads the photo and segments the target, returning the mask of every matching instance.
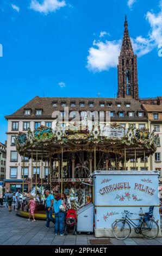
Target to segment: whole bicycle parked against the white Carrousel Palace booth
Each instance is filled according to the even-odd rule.
[[[141,234],[147,239],[154,239],[159,234],[159,225],[156,221],[154,221],[153,216],[149,217],[148,221],[145,221],[145,214],[139,214],[141,216],[140,222],[137,225],[130,220],[128,217],[129,214],[133,215],[131,212],[124,210],[124,214],[126,214],[122,220],[116,220],[113,224],[113,234],[118,240],[125,240],[130,235],[131,226],[134,228],[136,234]]]

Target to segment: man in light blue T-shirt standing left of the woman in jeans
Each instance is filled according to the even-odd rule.
[[[45,228],[49,228],[50,221],[52,221],[53,223],[55,222],[54,218],[52,217],[54,197],[52,194],[50,194],[49,190],[46,190],[45,194],[46,194],[46,218],[47,218]]]

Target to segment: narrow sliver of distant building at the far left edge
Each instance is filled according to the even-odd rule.
[[[0,142],[0,181],[5,179],[7,146]]]

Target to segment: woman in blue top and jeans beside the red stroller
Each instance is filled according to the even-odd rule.
[[[54,216],[55,216],[55,235],[58,235],[60,231],[60,235],[64,235],[64,220],[65,220],[65,211],[66,205],[61,199],[61,196],[58,195],[54,201]],[[60,207],[62,205],[62,207]],[[62,209],[62,210],[60,210]]]

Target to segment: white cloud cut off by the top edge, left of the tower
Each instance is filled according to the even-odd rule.
[[[48,14],[60,9],[61,7],[65,7],[65,5],[65,1],[59,0],[43,0],[41,3],[39,0],[32,0],[30,3],[30,9],[39,11],[39,13]]]

